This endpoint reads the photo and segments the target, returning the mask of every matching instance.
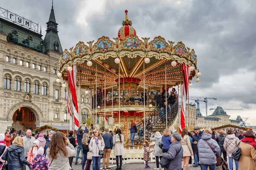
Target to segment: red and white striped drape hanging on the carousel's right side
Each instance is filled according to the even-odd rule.
[[[181,113],[180,113],[180,134],[185,127],[185,113],[186,113],[186,99],[189,90],[189,66],[182,64],[183,69],[183,85],[182,85],[182,100],[181,100]]]

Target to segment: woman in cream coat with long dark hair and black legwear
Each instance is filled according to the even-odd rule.
[[[122,155],[125,154],[124,136],[120,129],[116,129],[116,135],[113,137],[114,156],[116,156],[116,170],[122,170]],[[120,165],[119,165],[120,160]]]

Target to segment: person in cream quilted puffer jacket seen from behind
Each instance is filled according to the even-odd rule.
[[[224,150],[227,152],[227,156],[228,156],[228,166],[229,169],[232,170],[233,169],[233,157],[232,157],[232,153],[234,152],[234,150],[236,149],[236,144],[238,144],[239,139],[236,137],[236,135],[233,133],[233,130],[228,130],[227,131],[227,136],[224,139]],[[236,164],[236,170],[238,170],[238,161],[235,161]]]

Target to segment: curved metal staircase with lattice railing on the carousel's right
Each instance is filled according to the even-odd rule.
[[[151,119],[151,124],[147,126],[147,122],[145,122],[146,129],[149,130],[150,136],[152,133],[155,133],[159,131],[160,133],[163,133],[163,131],[166,129],[166,113],[164,113],[162,116],[160,116],[160,109],[165,107],[163,105],[163,101],[160,102],[159,105],[154,109],[153,113],[151,113],[148,118]],[[178,110],[179,110],[179,101],[177,100],[175,104],[170,106],[170,110],[167,113],[167,127],[172,128],[178,119]],[[144,127],[144,119],[136,124],[137,128]],[[148,139],[149,136],[146,133],[146,139]]]

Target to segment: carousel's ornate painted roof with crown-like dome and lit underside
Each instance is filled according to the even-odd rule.
[[[96,82],[97,86],[106,83],[107,88],[117,86],[119,75],[121,82],[139,85],[145,82],[146,87],[162,87],[163,84],[175,86],[183,83],[183,63],[194,66],[189,79],[195,77],[197,56],[194,49],[186,47],[183,42],[177,42],[176,45],[173,41],[168,43],[161,36],[151,41],[147,37],[140,40],[127,13],[126,10],[123,26],[118,37],[113,38],[114,41],[102,36],[94,44],[94,40],[87,42],[88,45],[80,41],[70,50],[64,50],[60,57],[62,79],[67,80],[67,67],[76,65],[77,82],[80,77],[83,88],[93,88]],[[115,63],[116,58],[119,58],[119,64]],[[146,58],[150,59],[149,63],[144,63]]]

